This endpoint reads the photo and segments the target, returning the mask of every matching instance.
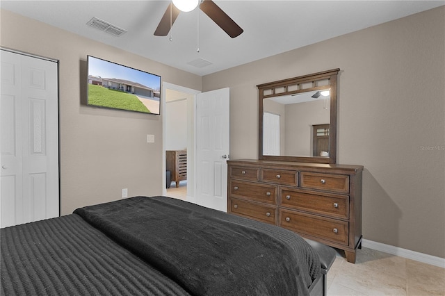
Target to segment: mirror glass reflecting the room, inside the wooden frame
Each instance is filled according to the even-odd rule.
[[[329,92],[270,97],[263,110],[263,155],[329,157]]]

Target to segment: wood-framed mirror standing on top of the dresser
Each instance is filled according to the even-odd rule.
[[[257,85],[259,159],[336,163],[338,72]]]

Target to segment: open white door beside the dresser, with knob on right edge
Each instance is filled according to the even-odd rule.
[[[197,94],[196,203],[227,211],[229,88]]]

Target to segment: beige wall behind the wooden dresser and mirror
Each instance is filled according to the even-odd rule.
[[[442,6],[204,76],[230,88],[231,158],[257,158],[255,85],[339,67],[337,162],[365,167],[364,238],[445,258],[444,28]]]

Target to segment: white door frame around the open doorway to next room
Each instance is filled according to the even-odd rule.
[[[166,94],[166,90],[176,90],[177,92],[184,92],[186,94],[191,94],[193,96],[193,114],[189,114],[189,112],[187,113],[187,119],[193,120],[193,145],[191,145],[191,143],[187,144],[187,151],[191,151],[191,155],[193,155],[193,159],[191,161],[189,161],[187,159],[187,169],[191,166],[192,167],[192,171],[193,171],[193,178],[192,178],[192,182],[187,182],[187,197],[186,200],[188,202],[193,202],[195,203],[195,192],[196,192],[196,172],[195,172],[195,162],[196,162],[196,158],[195,156],[195,148],[196,148],[196,138],[195,138],[195,134],[196,134],[196,96],[197,94],[201,93],[200,90],[193,90],[192,88],[186,88],[184,86],[181,85],[176,85],[176,84],[172,84],[172,83],[168,83],[163,81],[162,82],[162,91],[161,91],[161,115],[162,115],[162,171],[161,171],[161,175],[163,176],[162,178],[162,195],[167,195],[167,188],[166,188],[166,180],[165,180],[165,102],[166,102],[166,98],[165,98],[165,94]],[[189,155],[189,153],[187,153],[187,155]],[[188,158],[188,156],[187,156]],[[188,179],[188,172],[187,172],[187,179]]]

